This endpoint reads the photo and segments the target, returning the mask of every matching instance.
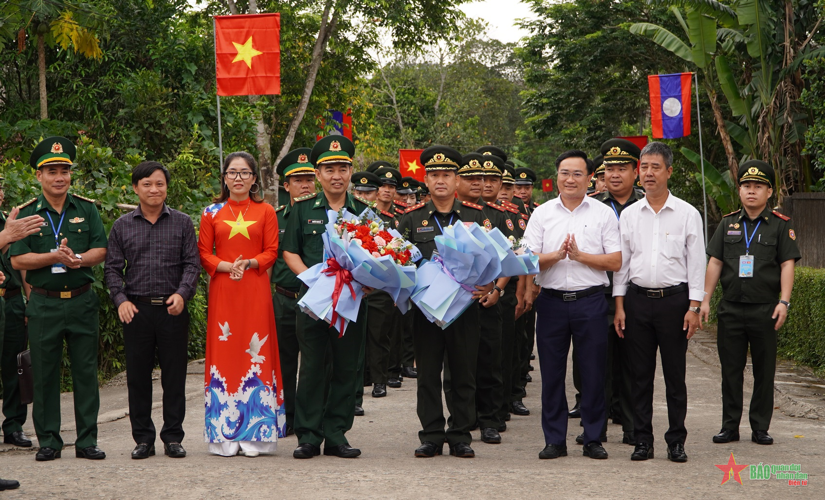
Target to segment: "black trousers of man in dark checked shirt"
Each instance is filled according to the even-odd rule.
[[[126,387],[134,442],[155,442],[152,421],[152,370],[157,356],[163,387],[163,442],[183,441],[186,416],[186,347],[189,343],[189,311],[170,315],[163,306],[135,302],[138,313],[123,325],[126,354]]]

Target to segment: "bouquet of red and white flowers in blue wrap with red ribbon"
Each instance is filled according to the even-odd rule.
[[[388,292],[402,312],[415,288],[413,264],[421,253],[409,241],[366,208],[361,216],[346,209],[329,212],[322,235],[324,259],[298,275],[309,290],[298,306],[315,319],[326,320],[338,330],[347,330],[358,317],[361,287]]]

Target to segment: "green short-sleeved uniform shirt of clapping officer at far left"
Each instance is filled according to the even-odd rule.
[[[57,248],[64,238],[68,240],[68,247],[76,254],[82,254],[92,248],[106,248],[106,230],[103,228],[100,213],[97,212],[97,207],[92,200],[82,198],[77,194],[67,194],[61,223],[61,214],[55,212],[45,196],[40,194],[21,206],[18,217],[35,214],[45,219],[44,226],[40,227],[40,232],[35,232],[21,241],[12,243],[9,255],[22,255],[30,252],[45,254]],[[54,240],[55,236],[57,242]],[[32,287],[44,288],[52,292],[74,290],[94,280],[92,268],[88,267],[67,268],[65,273],[52,273],[51,266],[45,266],[26,272],[26,281]]]

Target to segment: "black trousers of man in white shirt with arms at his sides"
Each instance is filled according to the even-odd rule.
[[[651,298],[628,288],[625,296],[625,340],[633,377],[633,430],[636,442],[653,445],[653,378],[656,351],[662,357],[667,420],[665,442],[685,443],[687,332],[682,329],[691,301],[687,291]]]

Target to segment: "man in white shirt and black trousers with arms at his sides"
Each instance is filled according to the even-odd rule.
[[[621,214],[621,270],[613,276],[614,325],[631,367],[636,447],[630,460],[653,458],[653,376],[662,356],[669,428],[667,458],[687,460],[687,339],[700,326],[705,297],[705,238],[699,212],[667,189],[673,153],[648,143],[639,160],[645,197]]]

